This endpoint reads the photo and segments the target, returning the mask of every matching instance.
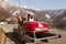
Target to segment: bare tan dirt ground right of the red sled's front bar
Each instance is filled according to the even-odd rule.
[[[57,29],[57,32],[62,35],[62,37],[48,40],[48,44],[66,44],[66,31]]]

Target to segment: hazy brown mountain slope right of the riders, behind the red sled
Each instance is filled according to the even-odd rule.
[[[34,12],[34,19],[37,19],[40,21],[46,21],[52,25],[55,25],[57,28],[66,28],[66,9],[59,9],[59,10],[33,10],[33,9],[25,9],[28,11]],[[51,16],[51,19],[46,19],[46,14]],[[64,19],[65,18],[65,19]]]

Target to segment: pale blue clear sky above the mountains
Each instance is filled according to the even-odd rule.
[[[10,2],[19,3],[18,1],[11,0]],[[41,10],[66,9],[66,0],[20,0],[20,6]]]

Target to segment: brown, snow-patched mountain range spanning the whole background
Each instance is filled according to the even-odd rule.
[[[1,7],[1,6],[0,6]],[[0,8],[0,21],[6,21],[7,19],[10,19],[10,22],[12,23],[12,21],[15,23],[16,22],[16,15],[15,13],[18,12],[19,10],[19,6],[10,6],[8,4],[4,8]],[[25,16],[26,18],[26,14],[31,14],[32,13],[32,16],[36,20],[40,20],[40,21],[44,21],[44,22],[47,22],[52,25],[59,25],[62,26],[63,24],[66,26],[66,9],[59,9],[59,10],[40,10],[40,9],[33,9],[33,8],[24,8],[24,7],[21,7],[20,8],[20,13],[22,16]],[[46,14],[48,16],[51,16],[48,19],[48,16],[46,16]],[[65,22],[64,22],[65,21]],[[9,23],[10,23],[9,22]]]

